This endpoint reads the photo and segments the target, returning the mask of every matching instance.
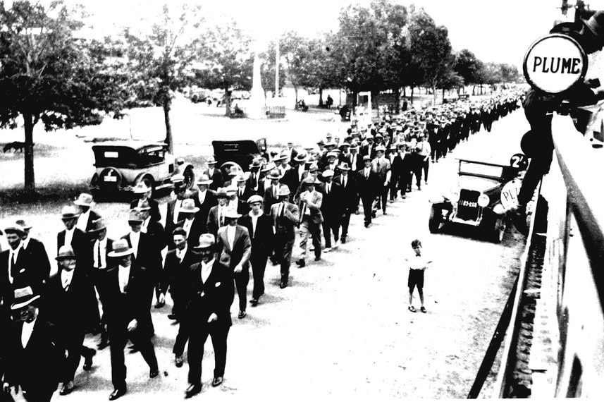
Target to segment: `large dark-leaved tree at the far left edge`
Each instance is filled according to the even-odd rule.
[[[34,126],[45,130],[99,124],[103,113],[121,117],[123,99],[103,65],[99,42],[75,37],[82,27],[77,9],[62,1],[47,8],[0,2],[0,127],[23,119],[27,193],[35,191]]]

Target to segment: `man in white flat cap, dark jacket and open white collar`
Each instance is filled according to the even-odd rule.
[[[262,197],[252,195],[247,199],[251,210],[249,214],[239,219],[239,224],[244,226],[252,241],[252,254],[249,263],[252,264],[252,276],[254,276],[254,289],[252,306],[257,306],[260,296],[264,295],[264,270],[266,261],[273,251],[273,221],[262,211]]]

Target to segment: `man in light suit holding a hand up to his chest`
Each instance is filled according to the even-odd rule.
[[[323,195],[316,191],[316,185],[321,184],[312,177],[307,177],[302,181],[305,190],[300,194],[298,209],[300,210],[300,260],[296,261],[298,267],[306,266],[308,236],[312,236],[314,245],[314,260],[321,260],[321,223],[323,223],[323,214],[321,214],[321,205]]]

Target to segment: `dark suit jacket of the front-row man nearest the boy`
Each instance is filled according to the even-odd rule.
[[[214,260],[211,272],[205,282],[202,281],[202,264],[192,264],[187,270],[187,308],[185,315],[190,324],[222,325],[230,327],[230,305],[235,298],[233,273],[218,259]],[[216,314],[216,322],[208,323],[210,315]]]

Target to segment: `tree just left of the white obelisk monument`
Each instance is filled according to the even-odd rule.
[[[226,116],[230,116],[231,91],[252,87],[252,39],[235,21],[212,27],[204,36],[195,81],[199,87],[223,89]]]

